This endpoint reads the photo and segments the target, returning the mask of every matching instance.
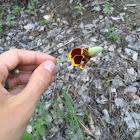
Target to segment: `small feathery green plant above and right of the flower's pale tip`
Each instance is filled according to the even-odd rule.
[[[113,41],[120,40],[120,37],[115,34],[115,26],[112,28],[108,27],[107,31],[101,32],[101,34],[103,34],[105,37],[107,37],[107,39],[110,39]]]

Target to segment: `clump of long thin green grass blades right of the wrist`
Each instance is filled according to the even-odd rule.
[[[63,93],[63,97],[64,99],[62,99],[61,97],[59,97],[60,101],[58,102],[58,104],[56,105],[56,112],[58,114],[58,119],[64,119],[66,121],[66,126],[69,129],[69,139],[73,139],[75,140],[75,128],[77,128],[80,132],[80,136],[81,136],[81,140],[84,140],[84,135],[82,133],[82,130],[80,128],[79,125],[79,121],[78,118],[76,116],[76,111],[74,109],[74,107],[71,104],[71,101],[68,97],[68,95],[66,93],[64,93],[64,91],[62,90]],[[64,107],[67,110],[67,114],[65,112],[63,112],[60,107],[59,107],[59,103],[63,103]],[[73,138],[72,138],[73,136]]]

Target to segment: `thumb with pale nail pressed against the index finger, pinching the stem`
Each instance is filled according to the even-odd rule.
[[[52,81],[54,70],[55,64],[50,60],[39,65],[32,73],[26,87],[20,93],[22,99],[37,102]]]

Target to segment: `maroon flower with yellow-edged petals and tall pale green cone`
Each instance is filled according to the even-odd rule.
[[[80,69],[84,69],[86,63],[90,60],[92,56],[95,56],[96,54],[100,53],[102,51],[102,47],[93,47],[93,48],[74,48],[69,53],[69,59],[72,60],[73,66],[80,66]]]

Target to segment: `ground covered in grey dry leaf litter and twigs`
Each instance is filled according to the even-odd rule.
[[[139,0],[41,0],[29,13],[27,2],[20,3],[20,12],[11,17],[13,26],[8,25],[6,15],[10,15],[15,3],[1,3],[6,7],[1,53],[11,48],[35,50],[60,61],[74,48],[103,47],[84,70],[73,67],[71,60],[56,65],[55,82],[40,99],[51,123],[51,127],[45,125],[45,136],[40,139],[70,137],[67,119],[56,119],[58,106],[65,115],[71,114],[65,103],[56,105],[60,97],[67,99],[62,90],[75,109],[85,138],[140,139]],[[45,15],[50,17],[47,23],[43,21]],[[50,105],[51,101],[55,103]],[[27,131],[32,132],[32,127],[30,124],[31,130]],[[79,129],[75,129],[74,137],[82,139]]]

